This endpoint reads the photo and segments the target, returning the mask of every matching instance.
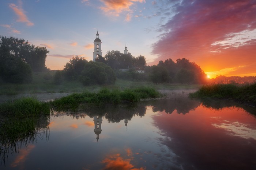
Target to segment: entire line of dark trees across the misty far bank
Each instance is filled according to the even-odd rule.
[[[28,83],[32,80],[32,71],[47,71],[45,60],[49,51],[46,47],[35,47],[24,39],[1,36],[0,40],[0,82]],[[116,78],[151,81],[159,83],[205,83],[204,71],[188,59],[159,61],[157,65],[147,66],[146,59],[131,53],[108,51],[105,56],[98,56],[96,62],[74,56],[65,64],[63,70],[53,76],[55,84],[63,80],[79,80],[84,85],[114,84]],[[144,74],[136,71],[142,68]],[[126,70],[126,71],[124,71]],[[45,79],[50,75],[46,74]]]

